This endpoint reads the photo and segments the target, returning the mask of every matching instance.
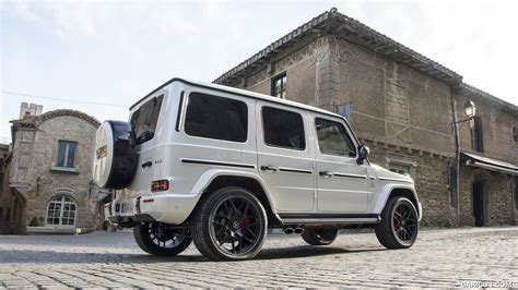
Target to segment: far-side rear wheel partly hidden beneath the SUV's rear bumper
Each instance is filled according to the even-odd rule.
[[[155,256],[176,256],[192,241],[187,229],[167,229],[167,225],[160,222],[136,226],[133,237],[140,249]]]

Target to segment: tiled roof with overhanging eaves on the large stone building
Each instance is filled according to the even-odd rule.
[[[293,43],[304,37],[317,37],[321,32],[341,36],[450,85],[457,85],[462,82],[462,76],[456,72],[376,32],[367,25],[338,12],[333,8],[270,44],[251,58],[222,74],[214,80],[214,83],[224,84],[237,80],[257,65],[274,58],[281,50],[287,48]]]

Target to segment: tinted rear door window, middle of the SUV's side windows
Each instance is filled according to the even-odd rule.
[[[272,107],[262,107],[264,143],[270,146],[304,150],[306,136],[299,113]]]

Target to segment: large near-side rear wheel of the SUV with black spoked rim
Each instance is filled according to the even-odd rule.
[[[191,218],[198,251],[212,261],[254,258],[267,234],[264,207],[248,190],[229,186],[208,193]]]

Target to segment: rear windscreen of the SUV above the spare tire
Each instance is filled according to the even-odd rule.
[[[152,140],[155,135],[156,122],[158,122],[163,99],[164,95],[152,98],[131,114],[130,123],[137,137],[137,144]]]

